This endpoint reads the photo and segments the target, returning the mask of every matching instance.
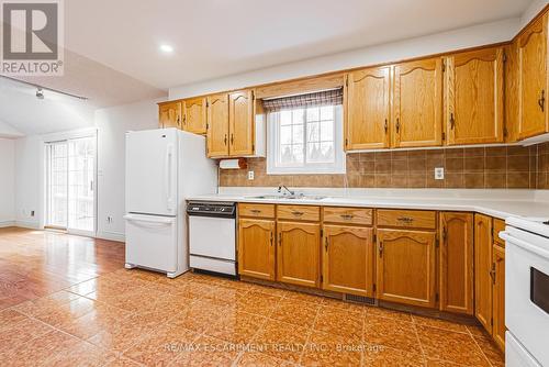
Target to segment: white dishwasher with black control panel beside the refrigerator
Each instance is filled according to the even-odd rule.
[[[236,204],[190,201],[189,266],[236,276]]]

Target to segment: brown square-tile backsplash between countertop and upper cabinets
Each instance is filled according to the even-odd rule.
[[[435,180],[435,168],[445,178]],[[255,179],[248,180],[253,170]],[[549,143],[529,147],[494,146],[350,153],[346,175],[267,175],[265,158],[247,169],[222,170],[223,187],[335,188],[517,188],[549,189]]]

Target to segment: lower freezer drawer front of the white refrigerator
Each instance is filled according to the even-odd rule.
[[[127,214],[126,264],[173,273],[177,270],[177,219]]]

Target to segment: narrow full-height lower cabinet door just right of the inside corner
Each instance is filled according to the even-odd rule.
[[[492,218],[474,214],[474,315],[492,334]]]

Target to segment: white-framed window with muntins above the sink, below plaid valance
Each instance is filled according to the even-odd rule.
[[[345,174],[340,104],[268,112],[267,174]]]

